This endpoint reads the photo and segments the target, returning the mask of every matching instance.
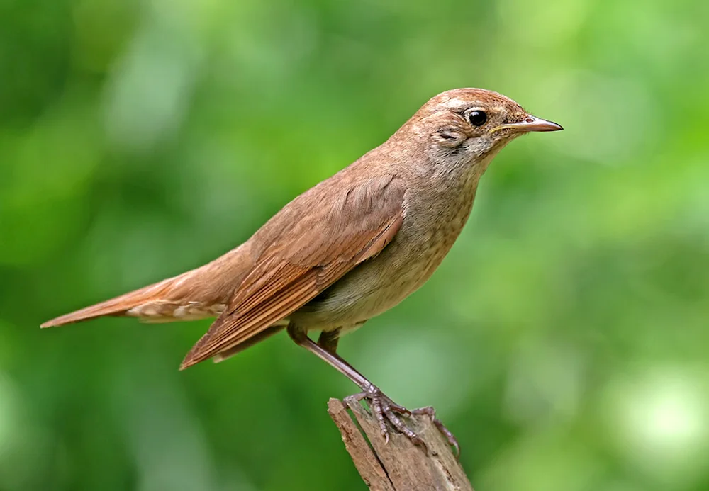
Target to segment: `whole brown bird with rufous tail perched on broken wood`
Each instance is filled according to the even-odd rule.
[[[425,446],[407,410],[337,354],[342,336],[420,288],[471,213],[493,157],[530,132],[562,130],[511,98],[452,89],[430,98],[384,143],[286,204],[246,242],[208,264],[41,324],[104,316],[171,322],[216,317],[180,369],[219,362],[286,330],[359,386],[381,434],[389,425]],[[317,341],[310,333],[320,333]]]

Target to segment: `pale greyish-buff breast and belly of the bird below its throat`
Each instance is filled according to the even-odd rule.
[[[430,184],[430,183],[429,183]],[[306,329],[335,329],[389,310],[430,278],[470,214],[476,181],[411,187],[393,241],[291,317]]]

